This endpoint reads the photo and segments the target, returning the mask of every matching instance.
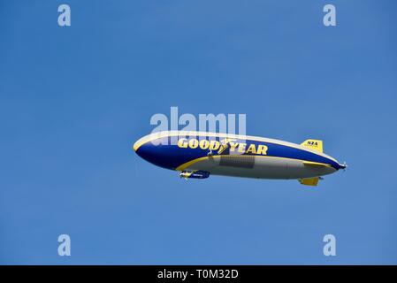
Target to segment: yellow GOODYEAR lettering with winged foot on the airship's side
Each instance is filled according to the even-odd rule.
[[[230,152],[235,152],[239,154],[256,154],[256,155],[267,155],[267,146],[264,144],[256,145],[255,143],[245,143],[237,142],[234,139],[224,139],[220,142],[218,141],[207,141],[197,139],[186,139],[181,138],[178,141],[178,147],[181,149],[208,149],[208,150],[218,150],[218,154],[222,154],[225,149],[230,149]]]

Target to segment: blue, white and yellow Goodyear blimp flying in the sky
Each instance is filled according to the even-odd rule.
[[[324,154],[323,141],[316,139],[295,144],[240,134],[164,131],[143,136],[133,148],[149,163],[185,179],[221,175],[317,186],[322,176],[347,168]]]

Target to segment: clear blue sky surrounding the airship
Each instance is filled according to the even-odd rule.
[[[72,26],[58,27],[70,4]],[[337,26],[324,27],[324,4]],[[2,1],[0,264],[397,264],[396,1]],[[155,113],[244,113],[346,172],[181,180]],[[57,237],[72,256],[57,255]],[[323,236],[337,256],[323,255]]]

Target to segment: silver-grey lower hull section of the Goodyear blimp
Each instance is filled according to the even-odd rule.
[[[211,175],[285,180],[312,178],[336,171],[330,166],[304,164],[301,160],[255,156],[207,157],[188,165],[184,170],[207,171]]]

